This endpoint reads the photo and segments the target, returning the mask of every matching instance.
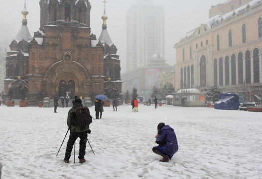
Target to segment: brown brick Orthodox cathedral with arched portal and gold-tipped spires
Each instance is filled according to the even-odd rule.
[[[31,37],[24,3],[22,26],[6,56],[3,97],[19,99],[21,86],[27,89],[28,105],[68,91],[70,97],[92,100],[105,89],[122,93],[120,60],[107,31],[106,8],[97,39],[91,33],[89,0],[40,0],[39,4],[40,28]]]

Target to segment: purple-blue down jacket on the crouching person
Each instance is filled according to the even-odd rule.
[[[164,145],[161,146],[161,148],[168,156],[172,156],[178,151],[178,144],[174,129],[169,125],[165,125],[160,130],[160,136],[156,136],[156,140],[158,142],[165,140]]]

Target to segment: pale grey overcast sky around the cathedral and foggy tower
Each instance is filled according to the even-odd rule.
[[[91,3],[91,31],[99,37],[102,31],[101,16],[104,13],[103,0],[89,0]],[[175,64],[174,44],[186,33],[205,23],[209,18],[212,5],[226,0],[151,0],[153,4],[162,5],[165,12],[165,59],[169,65]],[[126,72],[126,12],[137,0],[107,0],[107,30],[113,43],[117,46],[121,59],[122,74]],[[24,0],[4,0],[0,5],[0,41],[12,40],[21,26]],[[39,29],[39,0],[26,0],[28,29],[33,32]],[[7,44],[8,46],[8,44]],[[7,51],[9,47],[7,48]]]

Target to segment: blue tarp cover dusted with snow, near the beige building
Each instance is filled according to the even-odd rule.
[[[214,105],[215,109],[238,110],[239,95],[236,93],[220,93],[219,101]]]

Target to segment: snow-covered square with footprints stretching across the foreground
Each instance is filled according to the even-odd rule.
[[[79,140],[70,163],[63,162],[69,108],[0,106],[2,179],[260,179],[262,113],[205,107],[131,105],[104,107],[93,120],[86,160]],[[95,116],[94,107],[90,108]],[[156,126],[175,129],[179,150],[168,163],[152,152]]]

